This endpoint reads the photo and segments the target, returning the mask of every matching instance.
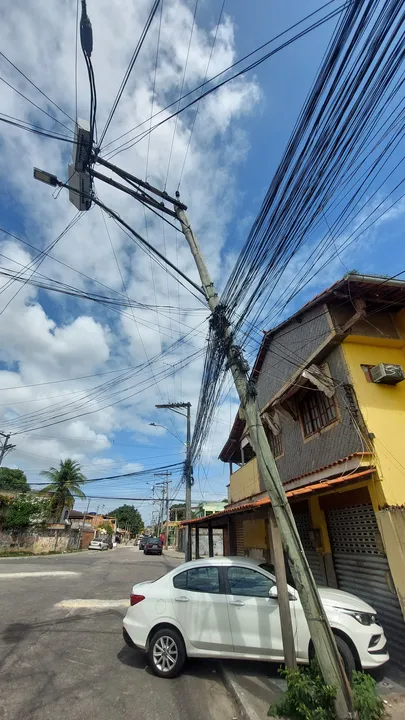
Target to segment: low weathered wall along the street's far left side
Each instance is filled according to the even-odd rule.
[[[48,552],[77,550],[80,535],[78,531],[32,530],[17,535],[0,532],[0,555],[4,552],[27,551],[40,555]]]

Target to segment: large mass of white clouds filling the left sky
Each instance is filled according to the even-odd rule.
[[[88,3],[94,31],[93,62],[99,132],[149,9],[147,0],[137,3],[116,0],[113,5],[109,0]],[[7,8],[7,13],[0,11],[2,51],[72,117],[75,113],[75,10],[74,0],[57,5],[50,5],[46,0],[35,0],[28,7],[23,0],[16,0]],[[165,0],[155,95],[156,19],[114,115],[106,142],[146,120],[151,113],[152,98],[154,112],[157,112],[178,97],[191,26],[192,11],[186,1]],[[214,31],[213,27],[202,27],[197,17],[184,92],[205,78]],[[220,72],[235,57],[232,18],[224,16],[210,60],[209,74]],[[68,127],[72,126],[68,118],[47,103],[5,61],[1,62],[0,70],[8,82]],[[221,252],[237,200],[234,169],[243,162],[247,152],[247,140],[240,121],[259,104],[260,99],[257,84],[242,78],[203,100],[187,153],[180,187],[182,199],[189,207],[189,217],[203,241],[207,262],[218,281],[223,279],[226,256],[222,258]],[[88,106],[88,80],[80,55],[79,116],[88,117]],[[50,118],[6,86],[2,87],[1,110],[68,134],[67,130],[54,125]],[[113,162],[141,177],[145,177],[148,166],[148,179],[159,187],[165,186],[168,176],[167,189],[174,193],[183,168],[195,112],[194,106],[180,115],[177,122],[173,119],[163,124],[151,134],[150,140],[135,144],[117,155]],[[162,113],[157,119],[162,119],[168,113]],[[175,127],[176,137],[169,168]],[[7,212],[8,207],[3,206],[1,224],[43,249],[74,217],[75,211],[65,191],[54,200],[49,187],[33,181],[32,167],[46,168],[60,178],[65,178],[71,148],[9,126],[1,127],[0,132],[0,174],[3,187],[8,188],[8,207],[12,209],[10,214]],[[139,131],[134,134],[136,132]],[[117,147],[117,144],[110,147]],[[103,202],[119,212],[199,284],[192,257],[181,235],[169,226],[163,228],[161,221],[151,213],[147,213],[145,222],[141,206],[107,185],[97,183],[97,192]],[[204,348],[207,330],[204,320],[208,312],[197,298],[179,286],[155,263],[151,263],[149,257],[110,218],[105,220],[119,269],[101,212],[93,208],[57,243],[50,253],[52,258],[46,258],[38,272],[74,287],[121,299],[128,293],[129,297],[138,302],[159,306],[159,313],[154,309],[125,309],[122,314],[117,314],[103,305],[38,292],[28,285],[13,283],[4,289],[6,280],[0,278],[0,312],[19,289],[19,293],[0,315],[0,361],[3,364],[0,387],[21,388],[2,391],[0,423],[5,429],[10,427],[14,432],[20,429],[26,433],[16,436],[17,450],[9,456],[9,461],[11,463],[12,459],[14,464],[26,468],[30,477],[35,477],[43,467],[67,456],[92,466],[96,472],[96,468],[100,471],[108,469],[116,462],[132,470],[139,464],[126,465],[122,454],[112,452],[115,450],[112,444],[114,435],[123,430],[135,433],[136,441],[153,444],[155,438],[159,443],[163,439],[171,447],[174,438],[169,439],[164,430],[160,434],[159,428],[151,428],[148,423],[161,423],[184,437],[184,420],[176,415],[170,419],[163,417],[162,411],[156,411],[154,405],[168,400],[187,400],[192,403],[193,417],[197,407],[202,356],[176,372],[173,377],[165,379],[164,376],[172,372],[176,364],[185,361],[188,355]],[[2,234],[0,252],[11,258],[7,260],[0,256],[0,264],[14,270],[20,268],[16,263],[26,265],[35,257],[34,251],[17,242],[10,242]],[[183,308],[181,312],[173,309],[179,307]],[[149,363],[183,335],[187,337],[180,340],[175,350],[168,351],[158,362]],[[98,375],[141,364],[145,364],[144,369],[137,373],[128,371],[125,375],[123,370],[122,373],[117,371]],[[68,380],[86,375],[94,377]],[[120,384],[117,384],[117,378],[121,378]],[[64,382],[37,384],[55,380]],[[33,387],[26,387],[34,384]],[[117,404],[104,407],[111,403]],[[52,418],[50,422],[58,423],[67,411],[70,413],[68,417],[81,417],[41,427],[47,424],[47,418]],[[39,429],[32,431],[36,425]],[[226,437],[228,427],[226,423],[222,425],[222,430],[221,423],[216,425],[215,452]],[[109,457],[102,456],[106,451]]]

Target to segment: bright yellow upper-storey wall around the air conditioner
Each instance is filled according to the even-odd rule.
[[[388,347],[391,343],[382,345],[382,338],[375,340],[352,335],[342,347],[368,431],[375,435],[376,466],[383,493],[383,497],[381,493],[379,497],[388,505],[402,505],[405,503],[405,381],[394,386],[367,382],[361,365],[385,362],[405,367],[405,350]]]

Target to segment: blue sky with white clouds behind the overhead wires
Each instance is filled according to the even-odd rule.
[[[189,90],[204,80],[208,64],[208,76],[220,72],[321,3],[307,0],[303,8],[298,0],[289,3],[254,0],[253,4],[226,0],[211,55],[221,4],[219,0],[199,1],[188,50],[195,2],[164,0],[156,83],[158,18],[106,142],[147,119],[152,102],[156,112],[178,97],[186,59],[184,90]],[[97,3],[88,0],[94,30],[99,129],[104,125],[132,53],[134,38],[139,36],[150,5],[148,0],[136,4],[119,0],[112,12],[107,0]],[[338,5],[332,3],[331,9]],[[12,8],[0,12],[6,30],[3,52],[74,117],[75,2],[65,0],[58,8],[49,8],[45,0],[34,0],[27,11],[26,3],[17,0]],[[150,140],[143,140],[113,160],[136,175],[148,175],[159,187],[167,182],[168,191],[174,192],[186,157],[180,186],[182,199],[189,207],[190,220],[219,286],[224,285],[260,208],[335,22],[328,22],[253,73],[203,100],[195,126],[193,110],[184,117],[180,115],[177,123],[173,120],[165,123],[151,134]],[[44,47],[46,63],[41,50]],[[78,68],[79,115],[87,117],[88,83],[80,56]],[[72,127],[69,119],[4,59],[0,60],[0,76],[66,122],[68,128]],[[13,90],[6,86],[3,90],[0,112],[67,134]],[[191,127],[194,132],[189,145]],[[75,211],[64,192],[53,199],[50,188],[33,182],[32,167],[46,167],[59,177],[66,177],[70,146],[6,125],[0,127],[0,142],[3,157],[0,225],[43,249],[74,218]],[[399,145],[391,159],[392,167],[402,155]],[[400,179],[401,166],[379,194],[370,198],[370,211]],[[402,190],[403,186],[399,187],[391,200],[396,200]],[[172,262],[197,279],[188,249],[178,233],[169,227],[163,231],[156,218],[145,218],[133,201],[106,186],[97,185],[97,192],[107,205],[167,253]],[[384,209],[388,204],[389,201]],[[391,275],[399,272],[402,265],[405,267],[401,243],[404,209],[399,201],[356,243],[342,249],[339,257],[335,253],[322,274],[303,289],[284,314],[293,312],[347,269]],[[355,227],[337,238],[338,247]],[[3,232],[0,243],[3,268],[20,270],[35,257],[32,248]],[[287,268],[286,282],[305,262],[310,249],[309,244]],[[134,311],[127,308],[119,314],[104,305],[16,282],[0,288],[1,427],[13,433],[16,444],[7,463],[24,469],[35,483],[41,482],[41,469],[69,456],[83,465],[89,478],[180,462],[184,457],[185,421],[167,410],[156,410],[155,404],[190,401],[195,414],[207,332],[205,308],[153,266],[98,208],[83,215],[51,254],[52,258],[36,268],[37,273],[116,299],[125,300],[128,295],[160,309],[156,312],[153,308]],[[180,340],[186,333],[186,338]],[[178,345],[171,348],[175,341],[179,341]],[[166,351],[165,356],[155,361],[162,350]],[[143,369],[139,369],[140,365]],[[105,385],[107,382],[109,386]],[[226,496],[228,468],[216,458],[236,408],[231,383],[227,382],[203,456],[195,467],[193,502]],[[151,422],[164,427],[152,427]],[[171,480],[173,496],[183,498],[178,468],[173,469]],[[108,511],[121,504],[118,499],[104,497],[151,497],[155,482],[151,473],[94,483],[89,486],[88,495],[93,498],[98,494],[100,499],[94,497],[90,509],[104,506],[104,511]],[[134,504],[148,521],[155,507],[153,503]],[[85,506],[87,502],[76,505],[79,509]]]

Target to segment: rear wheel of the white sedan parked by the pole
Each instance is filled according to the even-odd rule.
[[[162,628],[152,637],[148,650],[149,664],[159,677],[179,675],[186,660],[186,649],[180,633],[173,628]]]

